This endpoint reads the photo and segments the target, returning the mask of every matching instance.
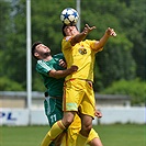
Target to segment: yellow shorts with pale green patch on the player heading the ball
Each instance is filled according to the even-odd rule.
[[[78,111],[94,117],[94,92],[91,83],[81,79],[70,79],[65,82],[64,111]]]

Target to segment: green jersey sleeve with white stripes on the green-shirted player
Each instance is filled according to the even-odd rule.
[[[48,72],[52,70],[52,68],[48,65],[46,65],[45,61],[37,60],[36,70],[37,70],[37,72],[40,72],[44,76],[48,76]]]

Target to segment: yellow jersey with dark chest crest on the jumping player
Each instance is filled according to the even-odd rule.
[[[78,78],[93,81],[93,66],[96,53],[101,49],[94,48],[94,41],[86,40],[71,46],[71,36],[64,37],[61,42],[61,52],[67,61],[67,68],[71,65],[78,66],[78,70],[66,77],[66,80]]]

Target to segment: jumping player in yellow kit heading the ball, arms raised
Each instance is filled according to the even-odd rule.
[[[64,91],[64,117],[56,122],[47,134],[48,142],[57,137],[74,121],[76,113],[81,117],[81,130],[77,136],[76,146],[85,146],[94,119],[93,65],[94,56],[103,49],[110,36],[116,36],[113,29],[108,29],[100,41],[86,40],[86,36],[96,27],[86,24],[81,33],[75,25],[64,25],[65,35],[61,50],[67,67],[77,65],[78,70],[66,77]],[[102,146],[101,142],[97,146]]]

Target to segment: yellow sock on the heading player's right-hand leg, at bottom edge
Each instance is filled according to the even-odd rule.
[[[80,133],[77,136],[77,141],[76,141],[76,146],[86,146],[87,144],[87,138],[86,136],[81,135]]]

